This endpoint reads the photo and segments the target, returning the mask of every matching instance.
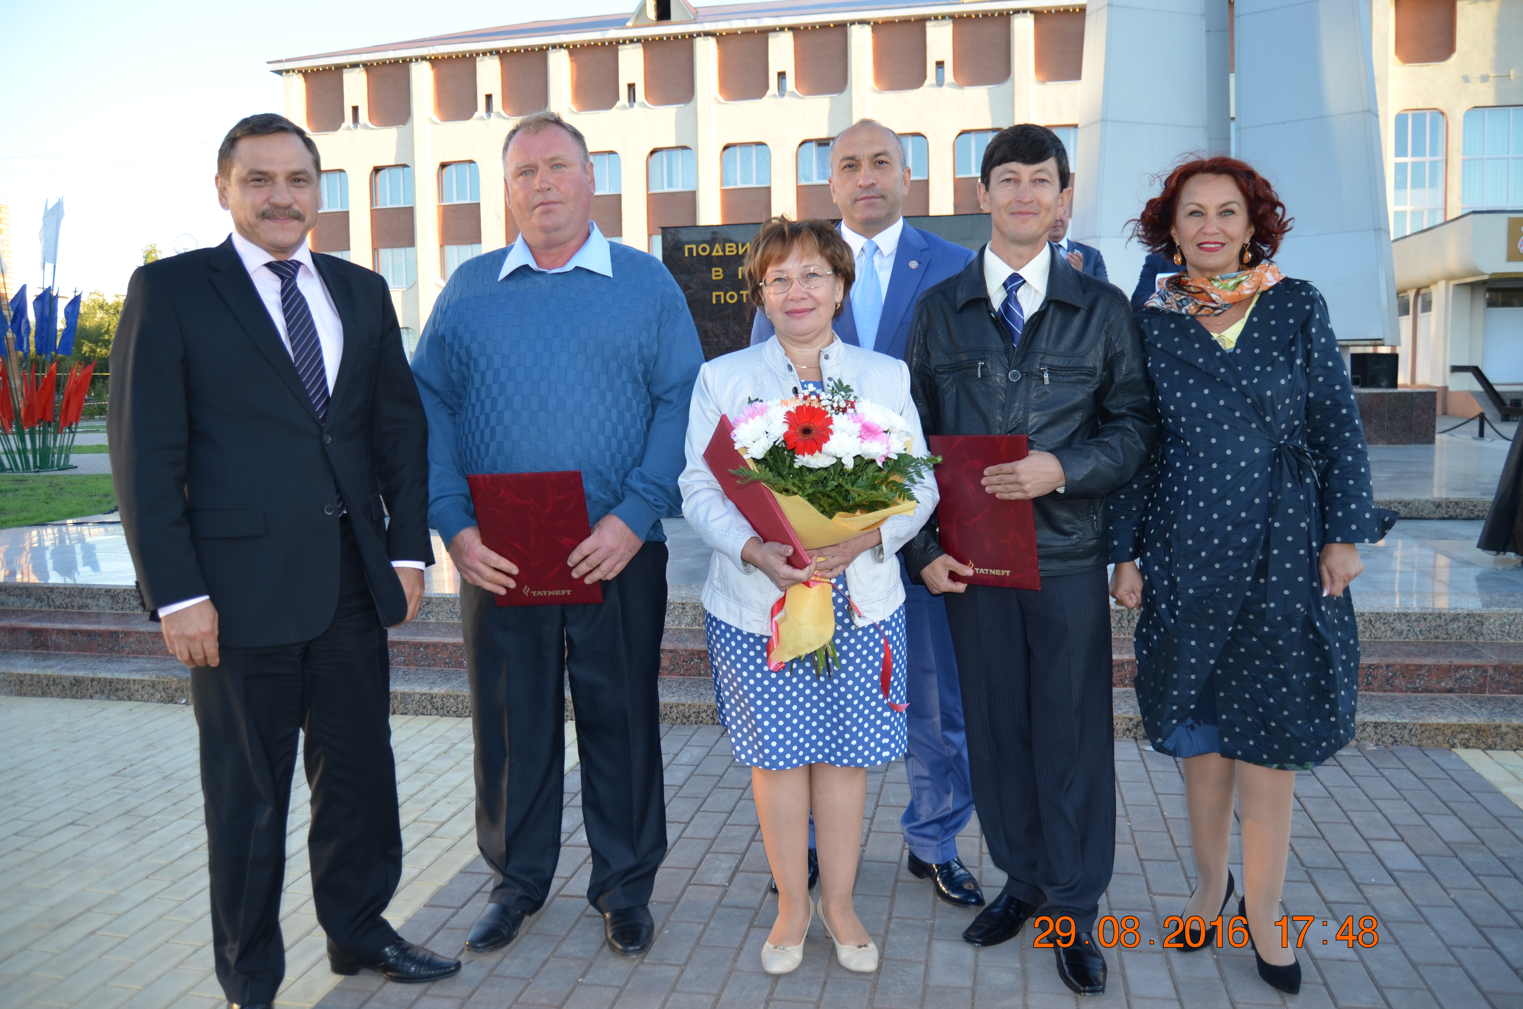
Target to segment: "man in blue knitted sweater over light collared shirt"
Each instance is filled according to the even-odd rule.
[[[496,873],[472,951],[518,934],[550,893],[560,852],[565,751],[560,672],[571,678],[586,898],[608,945],[638,956],[666,857],[656,677],[666,625],[666,535],[682,514],[688,396],[704,363],[672,274],[591,223],[592,160],[554,113],[503,145],[519,238],[463,264],[413,358],[428,413],[428,518],[460,570],[475,729],[477,844]],[[592,535],[568,558],[603,582],[602,605],[496,607],[518,567],[481,544],[466,474],[580,469]]]

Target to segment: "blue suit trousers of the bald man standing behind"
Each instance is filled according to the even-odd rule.
[[[952,652],[946,601],[924,585],[905,581],[905,623],[909,645],[908,687],[909,805],[900,825],[915,858],[943,863],[956,858],[956,835],[973,814],[973,785],[963,729],[963,692]]]

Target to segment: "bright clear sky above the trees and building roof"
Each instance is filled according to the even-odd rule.
[[[6,291],[38,287],[43,201],[64,198],[61,290],[120,294],[142,248],[175,236],[221,242],[216,145],[242,116],[283,111],[265,61],[544,17],[635,8],[635,0],[52,0],[5,8],[0,203],[11,206]],[[49,276],[52,270],[49,270]]]

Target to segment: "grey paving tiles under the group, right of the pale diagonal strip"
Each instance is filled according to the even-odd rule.
[[[1174,761],[1145,744],[1118,739],[1115,747],[1116,875],[1101,913],[1136,918],[1138,945],[1107,951],[1109,989],[1086,1006],[1523,1006],[1523,809],[1453,751],[1348,748],[1299,776],[1285,907],[1314,924],[1299,954],[1305,985],[1284,998],[1258,979],[1247,950],[1159,948],[1165,919],[1193,886],[1183,783]],[[664,727],[663,751],[670,854],[652,901],[659,937],[643,959],[609,954],[586,904],[591,864],[573,771],[554,896],[512,947],[465,954],[460,975],[426,988],[344,979],[318,1009],[1078,1004],[1058,982],[1052,954],[1031,947],[1030,930],[975,950],[961,940],[972,913],[938,902],[905,870],[903,764],[868,771],[857,908],[883,950],[882,969],[841,969],[816,921],[803,966],[778,979],[763,974],[760,947],[777,902],[766,895],[749,768],[734,764],[717,727]],[[1004,876],[976,818],[958,846],[985,892],[996,892]],[[489,882],[483,863],[472,861],[402,933],[440,951],[461,950]],[[1363,936],[1372,945],[1337,939],[1349,916],[1355,934],[1362,918],[1377,919]]]

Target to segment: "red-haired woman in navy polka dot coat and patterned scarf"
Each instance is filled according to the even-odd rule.
[[[1182,165],[1148,203],[1138,235],[1182,267],[1138,312],[1161,431],[1107,501],[1112,594],[1142,610],[1142,721],[1185,774],[1199,870],[1185,913],[1212,921],[1232,896],[1235,794],[1255,940],[1278,934],[1295,770],[1354,738],[1352,544],[1394,520],[1374,506],[1327,303],[1270,261],[1288,230],[1269,183],[1232,159]],[[1258,950],[1266,980],[1299,985],[1278,939]]]

